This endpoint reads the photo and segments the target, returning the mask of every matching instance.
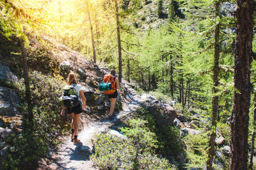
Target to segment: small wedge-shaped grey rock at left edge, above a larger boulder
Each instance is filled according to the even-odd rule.
[[[6,81],[16,82],[19,78],[12,73],[10,67],[0,64],[0,85],[4,85]]]

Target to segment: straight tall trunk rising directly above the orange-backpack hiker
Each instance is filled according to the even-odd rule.
[[[118,63],[119,63],[118,64],[118,66],[119,66],[118,80],[120,83],[122,83],[122,52],[121,52],[122,48],[121,48],[117,0],[115,0],[115,7],[116,7],[116,33],[117,33],[117,43],[118,43]]]

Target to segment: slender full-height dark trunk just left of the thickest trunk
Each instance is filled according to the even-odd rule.
[[[220,1],[215,3],[215,15],[216,19],[220,18]],[[212,92],[216,94],[218,92],[217,88],[219,85],[219,73],[220,73],[220,24],[216,24],[215,27],[215,39],[214,39],[214,68],[213,68],[213,87]],[[216,119],[218,116],[218,96],[212,97],[212,126],[211,126],[211,137],[210,137],[210,148],[208,151],[207,169],[212,169],[212,160],[215,155],[215,138],[216,138]]]

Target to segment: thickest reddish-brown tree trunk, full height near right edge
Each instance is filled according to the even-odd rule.
[[[230,169],[247,169],[252,62],[253,1],[237,0],[234,105],[231,116]]]

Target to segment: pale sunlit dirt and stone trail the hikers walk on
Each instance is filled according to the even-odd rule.
[[[113,120],[104,118],[84,124],[83,129],[78,134],[81,143],[74,145],[70,136],[63,138],[63,143],[58,147],[58,150],[52,153],[51,158],[42,159],[38,169],[97,169],[90,159],[94,150],[92,141],[95,134],[108,131],[116,136],[121,136],[122,134],[115,130],[116,127],[122,124],[122,120],[128,118],[133,111],[136,111],[138,106],[140,106],[138,99],[127,96],[123,103],[123,110],[119,111]]]

